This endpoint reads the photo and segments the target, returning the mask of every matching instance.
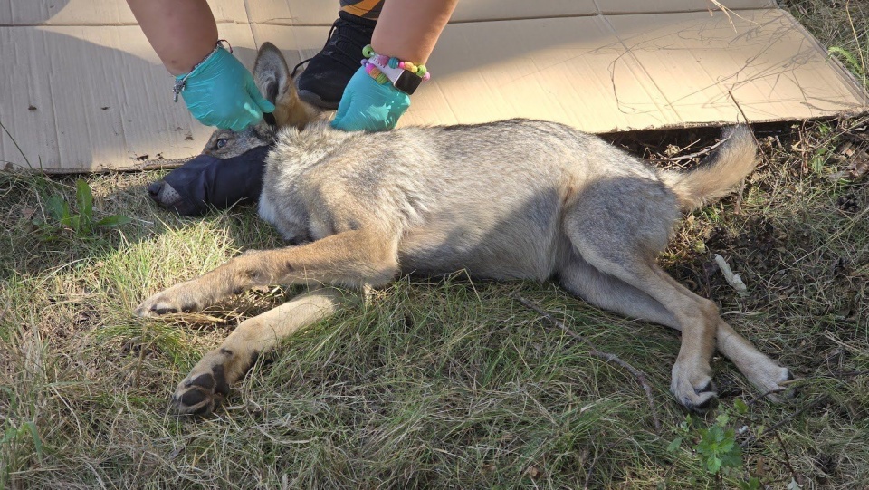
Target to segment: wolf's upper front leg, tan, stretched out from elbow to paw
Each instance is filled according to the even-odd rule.
[[[215,270],[154,294],[138,316],[195,312],[253,286],[271,284],[380,285],[398,272],[397,239],[351,230],[308,245],[247,252]]]

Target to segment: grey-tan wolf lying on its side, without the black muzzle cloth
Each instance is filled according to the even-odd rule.
[[[368,288],[399,274],[460,270],[486,280],[555,280],[602,309],[680,331],[670,389],[691,410],[717,403],[716,348],[762,393],[792,379],[714,303],[655,263],[681,212],[727,195],[755,168],[746,126],[728,130],[699,168],[675,172],[543,120],[335,130],[298,99],[271,43],[260,48],[253,75],[277,108],[276,124],[217,131],[208,145],[228,154],[274,144],[259,215],[294,245],[239,255],[154,294],[136,313],[196,311],[254,286],[309,289],[241,322],[206,353],[172,396],[178,414],[214,410],[259,354],[358,303]]]

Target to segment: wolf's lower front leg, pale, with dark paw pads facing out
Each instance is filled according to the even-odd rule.
[[[244,377],[260,353],[357,299],[357,295],[334,288],[317,289],[245,320],[219,348],[205,354],[178,384],[170,409],[177,414],[211,412],[229,393],[229,387]]]

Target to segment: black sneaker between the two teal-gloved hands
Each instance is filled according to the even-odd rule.
[[[299,98],[322,109],[338,109],[344,87],[359,69],[362,48],[371,43],[376,21],[339,12],[320,53],[296,65],[308,67],[295,79]]]

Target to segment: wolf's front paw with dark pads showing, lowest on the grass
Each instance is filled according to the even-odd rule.
[[[177,415],[207,415],[229,394],[225,367],[203,359],[180,383],[169,402],[169,410]]]

